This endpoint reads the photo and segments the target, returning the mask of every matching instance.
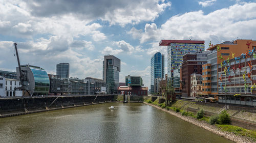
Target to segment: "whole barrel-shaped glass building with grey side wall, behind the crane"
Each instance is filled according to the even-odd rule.
[[[22,65],[22,72],[29,81],[29,92],[33,96],[48,95],[50,91],[50,79],[47,72],[37,66]],[[17,79],[19,79],[19,69],[17,69]]]

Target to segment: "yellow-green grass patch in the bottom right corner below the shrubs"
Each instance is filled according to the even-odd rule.
[[[232,126],[232,125],[216,125],[222,131],[232,132],[236,135],[242,135],[249,138],[252,138],[253,141],[256,141],[256,130],[247,130],[241,127]]]

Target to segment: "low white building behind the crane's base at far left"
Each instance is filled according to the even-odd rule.
[[[5,95],[6,97],[22,96],[22,91],[16,90],[14,94],[14,88],[21,87],[20,82],[17,79],[5,78]]]

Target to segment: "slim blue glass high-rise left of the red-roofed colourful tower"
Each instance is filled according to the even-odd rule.
[[[155,93],[155,79],[164,78],[164,54],[155,53],[151,58],[151,93]]]

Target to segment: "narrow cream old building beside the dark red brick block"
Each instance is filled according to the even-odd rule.
[[[203,84],[202,84],[202,75],[193,73],[190,75],[190,97],[202,96]]]

